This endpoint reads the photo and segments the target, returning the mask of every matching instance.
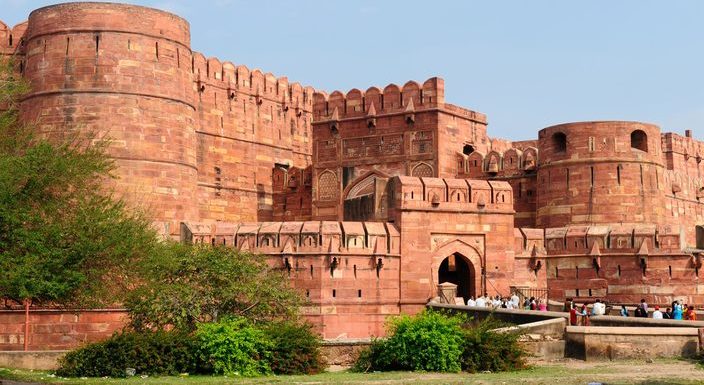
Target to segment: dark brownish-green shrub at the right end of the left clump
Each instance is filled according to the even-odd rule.
[[[320,337],[309,324],[275,322],[263,328],[272,343],[270,366],[276,374],[314,374],[325,369]]]

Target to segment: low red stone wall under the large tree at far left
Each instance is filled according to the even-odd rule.
[[[24,348],[24,310],[0,310],[0,351]],[[67,350],[103,340],[127,322],[124,309],[31,310],[29,350]]]

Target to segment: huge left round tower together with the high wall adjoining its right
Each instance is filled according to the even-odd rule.
[[[192,52],[176,15],[58,4],[0,25],[0,38],[32,85],[23,117],[47,135],[109,137],[114,185],[165,233],[181,220],[271,220],[274,166],[311,164],[313,89]]]

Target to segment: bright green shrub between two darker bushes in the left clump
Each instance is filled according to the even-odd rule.
[[[274,346],[264,331],[245,319],[198,325],[195,333],[202,370],[253,377],[271,374]]]

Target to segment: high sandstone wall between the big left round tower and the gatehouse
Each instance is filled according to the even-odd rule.
[[[266,221],[272,169],[311,164],[313,89],[194,53],[200,218]]]

